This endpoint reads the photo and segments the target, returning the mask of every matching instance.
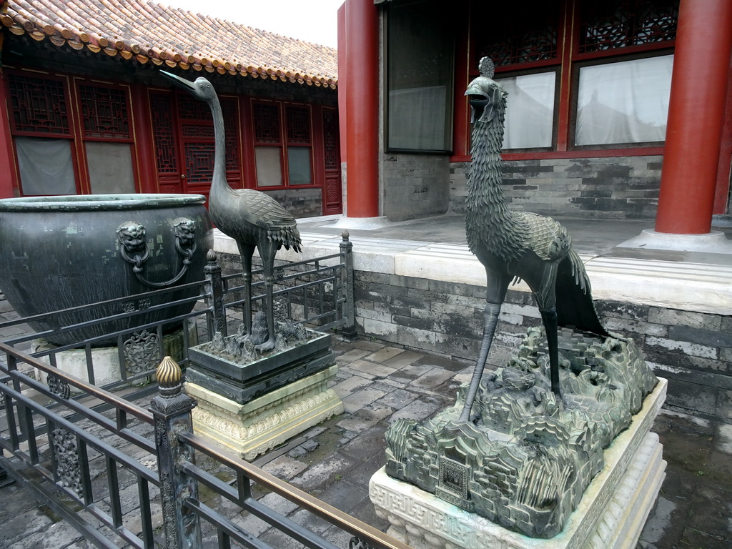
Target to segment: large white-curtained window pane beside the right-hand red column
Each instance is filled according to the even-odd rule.
[[[580,67],[575,144],[663,141],[673,56]]]

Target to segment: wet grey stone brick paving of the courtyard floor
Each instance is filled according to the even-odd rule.
[[[386,428],[397,418],[426,419],[451,404],[471,367],[364,339],[349,343],[334,338],[333,348],[340,365],[333,386],[346,411],[255,463],[385,530],[386,521],[376,516],[368,498],[368,480],[384,465]],[[664,444],[668,469],[638,548],[732,548],[732,425],[663,412],[654,431]],[[231,478],[216,463],[204,460],[203,466],[221,479]],[[323,520],[275,494],[256,495],[336,545],[348,547],[348,537]],[[201,499],[272,547],[300,547],[233,504],[217,501],[207,490],[201,490]],[[215,532],[206,526],[203,531],[203,547],[216,547]],[[88,547],[89,542],[26,490],[17,485],[0,488],[0,548]]]

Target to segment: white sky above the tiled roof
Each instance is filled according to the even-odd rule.
[[[263,31],[337,47],[338,8],[344,0],[154,0]]]

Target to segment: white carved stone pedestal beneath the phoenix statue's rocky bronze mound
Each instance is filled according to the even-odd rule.
[[[449,504],[381,468],[371,477],[376,513],[389,520],[389,535],[415,549],[635,548],[665,477],[658,436],[650,432],[665,400],[659,379],[627,430],[605,449],[605,467],[586,489],[560,534],[537,539],[510,531]]]

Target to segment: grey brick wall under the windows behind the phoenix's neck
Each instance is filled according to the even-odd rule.
[[[543,215],[654,219],[660,156],[512,160],[504,165],[504,193],[512,209]],[[449,203],[465,212],[470,163],[450,165]]]

